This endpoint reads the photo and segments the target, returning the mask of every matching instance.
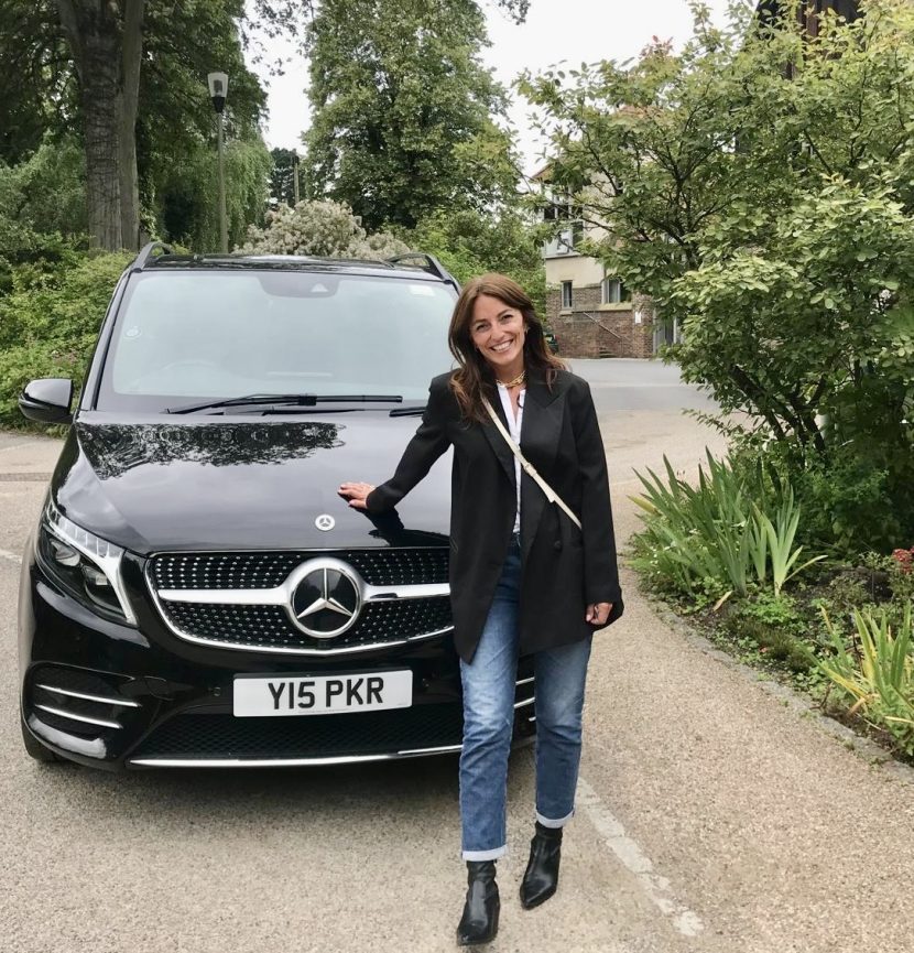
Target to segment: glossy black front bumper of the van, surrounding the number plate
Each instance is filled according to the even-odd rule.
[[[197,646],[162,622],[142,568],[124,573],[139,627],[101,618],[34,559],[20,588],[23,724],[55,754],[93,767],[285,767],[460,750],[459,660],[449,633],[412,646],[302,659]],[[406,708],[289,717],[232,715],[237,674],[413,673]],[[532,739],[532,660],[522,660],[515,743]]]

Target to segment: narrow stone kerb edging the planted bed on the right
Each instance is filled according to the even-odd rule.
[[[824,715],[815,704],[804,694],[781,682],[768,678],[758,669],[740,662],[732,656],[719,649],[710,639],[700,635],[682,616],[677,615],[668,603],[657,596],[641,591],[640,595],[650,605],[651,610],[663,622],[665,622],[676,635],[682,636],[693,648],[704,652],[706,656],[723,664],[730,671],[738,672],[742,678],[758,685],[765,694],[777,698],[785,707],[799,715],[802,718],[812,721],[813,724],[826,735],[830,735],[840,741],[844,747],[853,751],[870,767],[879,768],[892,780],[901,781],[903,784],[914,787],[914,768],[897,761],[892,755],[880,747],[875,741],[842,725],[829,715]]]

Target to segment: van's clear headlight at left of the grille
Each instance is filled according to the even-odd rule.
[[[137,625],[121,582],[120,546],[76,526],[48,500],[39,527],[37,551],[54,578],[84,605]]]

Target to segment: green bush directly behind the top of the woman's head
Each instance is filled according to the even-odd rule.
[[[488,271],[510,275],[531,296],[537,314],[545,313],[540,232],[518,213],[439,212],[402,237],[412,248],[439,258],[460,283]]]

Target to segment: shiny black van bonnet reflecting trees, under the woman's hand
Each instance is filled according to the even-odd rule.
[[[450,454],[393,513],[368,517],[337,494],[344,480],[391,477],[417,424],[387,411],[165,423],[84,413],[52,495],[75,523],[140,554],[445,545]],[[317,529],[324,516],[329,531]]]

